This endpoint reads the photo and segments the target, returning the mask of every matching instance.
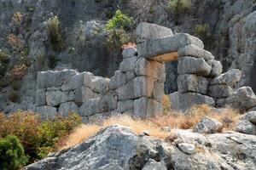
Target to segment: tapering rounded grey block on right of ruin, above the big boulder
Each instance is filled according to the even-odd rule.
[[[228,86],[235,86],[241,79],[241,71],[238,69],[231,69],[230,71],[215,77],[211,84],[226,84]]]

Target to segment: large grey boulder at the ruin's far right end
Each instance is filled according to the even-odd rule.
[[[219,101],[218,105],[230,105],[241,111],[248,111],[256,106],[256,95],[250,87],[238,88],[229,98]]]

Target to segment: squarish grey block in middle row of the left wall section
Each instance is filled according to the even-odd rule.
[[[67,102],[69,99],[68,92],[48,91],[46,92],[46,102],[49,106],[57,106]]]

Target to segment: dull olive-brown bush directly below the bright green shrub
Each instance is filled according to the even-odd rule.
[[[106,45],[109,50],[121,49],[122,45],[128,42],[134,42],[134,38],[130,33],[123,29],[115,29],[108,34]]]

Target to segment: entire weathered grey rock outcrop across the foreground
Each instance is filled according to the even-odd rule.
[[[177,130],[176,140],[166,143],[114,125],[73,148],[50,154],[25,170],[253,170],[255,144],[253,135],[235,132],[203,135],[190,130]]]

